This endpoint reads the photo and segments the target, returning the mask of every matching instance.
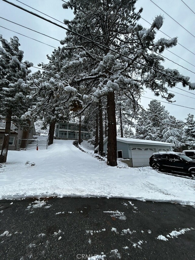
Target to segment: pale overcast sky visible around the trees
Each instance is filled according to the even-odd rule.
[[[41,16],[44,16],[43,14],[40,14],[39,12],[30,8],[33,7],[34,9],[37,9],[61,22],[63,22],[64,19],[71,20],[74,17],[73,12],[71,10],[62,8],[62,4],[63,4],[62,0],[28,0],[28,1],[20,0],[20,2],[23,2],[29,5],[30,7],[27,7],[16,0],[9,0],[9,2],[12,2],[16,5],[20,5],[25,9],[28,9],[32,12],[36,12]],[[158,32],[156,39],[159,39],[161,37],[168,38],[165,35],[167,34],[171,38],[178,37],[179,44],[176,47],[169,49],[177,56],[172,54],[171,52],[168,52],[167,50],[165,50],[165,52],[163,52],[162,55],[178,63],[179,65],[185,67],[186,69],[168,60],[166,60],[163,65],[165,66],[165,68],[167,67],[171,69],[178,69],[181,74],[185,76],[189,76],[191,82],[195,82],[195,62],[194,62],[195,61],[195,32],[194,32],[195,2],[194,0],[183,0],[183,1],[182,0],[172,0],[172,1],[138,0],[136,7],[137,10],[140,7],[144,8],[142,12],[143,19],[140,19],[139,22],[144,27],[149,27],[150,26],[149,23],[152,23],[155,16],[159,14],[164,16],[164,24],[161,27],[161,31],[164,34]],[[44,20],[41,20],[40,18],[35,17],[27,12],[24,12],[23,10],[20,10],[6,2],[3,2],[2,0],[0,0],[0,16],[14,23],[18,23],[20,25],[28,27],[32,30],[36,30],[38,32],[41,32],[42,34],[46,34],[56,39],[56,40],[51,39],[47,36],[38,34],[37,32],[31,31],[27,28],[23,28],[19,25],[16,25],[14,23],[11,23],[9,21],[0,18],[0,26],[7,28],[5,29],[0,27],[0,34],[2,34],[3,38],[6,38],[8,41],[10,37],[16,35],[19,38],[21,44],[20,47],[24,51],[24,60],[29,60],[30,62],[33,62],[35,67],[37,67],[37,64],[39,62],[47,63],[48,59],[46,55],[47,54],[50,55],[54,50],[54,47],[60,46],[58,40],[62,40],[66,36],[66,30],[61,29],[55,25],[52,25],[51,23],[48,23]],[[62,26],[65,26],[56,20],[48,18],[47,16],[44,17]],[[189,32],[187,32],[178,23]],[[10,30],[13,30],[17,33],[12,32]],[[52,47],[48,45],[44,45],[32,39],[29,39],[18,33],[34,38],[38,41],[42,41],[48,45],[51,45]],[[181,45],[183,45],[185,48],[182,47]],[[32,68],[32,72],[36,70],[37,70],[36,68]],[[192,72],[190,72],[189,70]],[[141,105],[143,105],[144,108],[147,108],[148,104],[151,101],[151,98],[154,98],[159,101],[162,101],[161,104],[165,106],[165,109],[167,109],[168,112],[170,112],[170,114],[172,116],[175,116],[177,119],[184,120],[189,113],[195,115],[195,106],[194,106],[195,90],[189,91],[188,87],[183,88],[181,84],[178,84],[177,87],[180,88],[181,90],[178,88],[174,88],[170,92],[174,91],[173,94],[175,94],[174,100],[176,100],[176,102],[174,102],[173,104],[180,105],[180,106],[164,103],[166,102],[166,100],[163,100],[161,97],[158,98],[155,97],[154,94],[152,94],[147,89],[146,92],[144,92],[143,97],[141,98]],[[185,108],[185,107],[189,107],[189,108]]]

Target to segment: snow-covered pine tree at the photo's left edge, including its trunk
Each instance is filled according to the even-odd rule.
[[[30,90],[27,75],[33,63],[23,62],[23,51],[19,49],[19,39],[14,36],[10,42],[0,35],[0,115],[5,116],[5,136],[2,144],[0,162],[6,162],[12,116],[20,119],[31,106],[27,98]]]

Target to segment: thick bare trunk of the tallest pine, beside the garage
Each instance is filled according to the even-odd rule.
[[[116,116],[115,116],[115,93],[107,95],[107,116],[108,116],[108,142],[107,142],[107,164],[117,166],[116,148]]]

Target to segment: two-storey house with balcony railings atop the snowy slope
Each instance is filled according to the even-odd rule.
[[[92,133],[88,131],[84,124],[81,125],[81,139],[89,140]],[[64,122],[57,123],[55,130],[55,139],[76,140],[79,138],[79,123]]]

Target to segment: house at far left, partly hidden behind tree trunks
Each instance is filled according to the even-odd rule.
[[[5,117],[0,116],[0,150],[2,149],[2,144],[3,144],[3,138],[5,136]],[[9,136],[9,148],[8,150],[15,150],[20,147],[21,141],[22,141],[22,136],[23,136],[23,127],[17,125],[14,122],[11,122],[11,131],[10,131],[10,136]],[[34,127],[34,122],[33,120],[30,121],[30,128],[28,130],[28,140],[33,139],[33,135],[36,134],[35,127]],[[25,141],[28,143],[28,140]]]

